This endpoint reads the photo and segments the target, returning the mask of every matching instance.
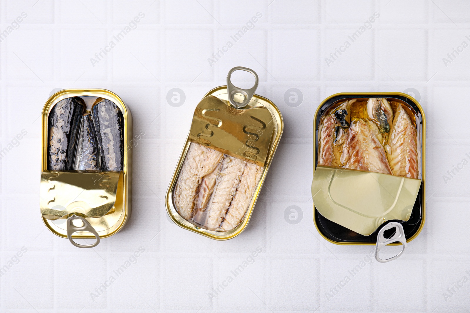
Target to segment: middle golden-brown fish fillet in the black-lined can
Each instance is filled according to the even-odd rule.
[[[362,119],[351,122],[340,161],[344,168],[392,174],[384,147],[368,122]]]

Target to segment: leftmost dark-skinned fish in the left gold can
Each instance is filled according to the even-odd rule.
[[[49,113],[47,169],[71,170],[85,102],[77,97],[59,101]]]

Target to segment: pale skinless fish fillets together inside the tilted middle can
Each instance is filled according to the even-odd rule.
[[[173,194],[176,210],[208,230],[232,230],[245,216],[262,171],[251,162],[191,143]]]

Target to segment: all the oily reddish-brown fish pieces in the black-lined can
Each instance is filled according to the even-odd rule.
[[[402,104],[350,99],[322,118],[318,164],[418,178],[416,126]]]

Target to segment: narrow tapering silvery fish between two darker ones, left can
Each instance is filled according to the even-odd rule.
[[[82,116],[73,169],[84,171],[101,170],[101,160],[96,139],[96,131],[94,130],[94,124],[90,112]]]

